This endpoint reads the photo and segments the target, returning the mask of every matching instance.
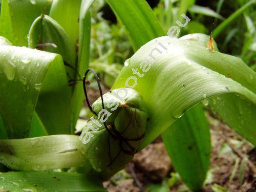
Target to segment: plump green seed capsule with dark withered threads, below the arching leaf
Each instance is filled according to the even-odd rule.
[[[92,105],[97,116],[84,127],[83,133],[91,134],[84,150],[93,168],[108,177],[122,169],[138,151],[145,135],[147,112],[144,100],[133,89],[113,90],[104,94],[103,100],[105,110],[101,98]]]

